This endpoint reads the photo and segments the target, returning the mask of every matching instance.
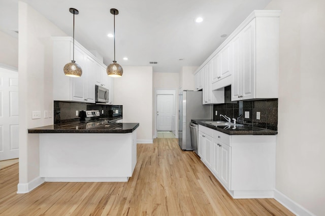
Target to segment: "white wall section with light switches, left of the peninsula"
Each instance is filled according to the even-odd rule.
[[[53,23],[18,2],[19,24],[19,184],[18,193],[30,191],[39,179],[39,135],[27,128],[53,124],[53,118],[31,119],[32,111],[53,110],[52,41],[66,36]]]

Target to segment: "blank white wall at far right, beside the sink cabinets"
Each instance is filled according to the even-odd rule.
[[[273,0],[266,9],[282,10],[276,189],[325,215],[325,1]]]

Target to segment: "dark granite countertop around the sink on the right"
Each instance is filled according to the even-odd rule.
[[[193,123],[201,124],[203,126],[215,129],[216,131],[229,134],[229,135],[277,135],[277,131],[254,127],[249,125],[236,125],[235,126],[215,126],[212,124],[204,123],[203,121],[213,121],[212,119],[192,119]]]

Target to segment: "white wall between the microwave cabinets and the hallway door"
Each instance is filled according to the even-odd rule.
[[[139,122],[138,143],[152,143],[152,67],[122,66],[114,78],[114,104],[123,105],[123,122]]]

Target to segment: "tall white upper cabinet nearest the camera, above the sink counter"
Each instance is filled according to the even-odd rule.
[[[253,15],[233,39],[232,101],[278,98],[280,12]]]

